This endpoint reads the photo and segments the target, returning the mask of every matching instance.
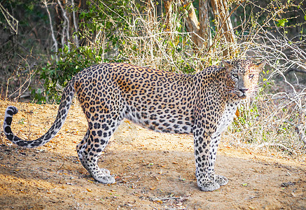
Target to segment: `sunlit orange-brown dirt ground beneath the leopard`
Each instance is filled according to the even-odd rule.
[[[305,159],[221,144],[216,174],[229,183],[205,193],[195,180],[193,137],[125,120],[99,160],[116,176],[115,184],[103,185],[78,161],[76,145],[87,130],[80,106],[71,107],[46,146],[25,149],[4,137],[8,105],[19,109],[12,130],[24,139],[41,136],[57,113],[56,105],[0,101],[0,209],[306,209]]]

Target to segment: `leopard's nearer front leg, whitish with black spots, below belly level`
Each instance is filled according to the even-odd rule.
[[[210,141],[211,132],[206,132],[202,129],[194,131],[195,176],[197,178],[197,186],[203,191],[213,191],[220,188],[214,176],[211,176],[211,174],[214,174],[214,165],[209,162]]]

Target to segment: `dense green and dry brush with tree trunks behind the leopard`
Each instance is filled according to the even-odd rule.
[[[258,97],[225,135],[305,154],[306,1],[10,0],[0,25],[4,99],[59,102],[74,74],[102,62],[195,73],[221,59],[265,60]]]

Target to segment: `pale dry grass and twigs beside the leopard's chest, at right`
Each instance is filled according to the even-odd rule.
[[[302,104],[305,104],[303,94]],[[249,106],[248,106],[249,105]],[[240,107],[225,139],[228,143],[251,146],[282,157],[305,158],[305,111],[286,93],[264,94]]]

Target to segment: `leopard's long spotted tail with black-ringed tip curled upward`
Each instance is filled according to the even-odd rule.
[[[4,134],[6,134],[6,138],[12,141],[13,144],[17,144],[18,146],[22,146],[25,148],[36,148],[48,143],[48,141],[53,139],[57,132],[60,131],[62,125],[64,125],[64,121],[67,118],[68,111],[71,106],[72,98],[74,97],[74,92],[74,79],[72,79],[68,83],[67,87],[64,88],[60,106],[57,111],[57,116],[53,125],[50,127],[48,132],[46,132],[46,134],[43,134],[43,136],[39,137],[39,139],[36,140],[26,141],[20,139],[20,137],[17,137],[15,134],[13,134],[11,130],[11,123],[13,116],[18,113],[18,109],[15,106],[8,106],[8,108],[6,108],[6,113],[4,116]]]

